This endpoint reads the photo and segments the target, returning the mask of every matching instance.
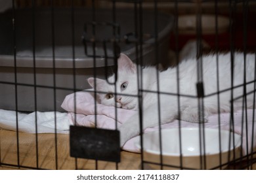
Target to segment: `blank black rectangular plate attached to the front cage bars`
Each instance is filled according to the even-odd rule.
[[[119,131],[71,125],[70,156],[120,162]]]

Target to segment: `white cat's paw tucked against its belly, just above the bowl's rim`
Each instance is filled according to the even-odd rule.
[[[198,116],[198,108],[185,108],[181,111],[180,120],[185,122],[192,122],[192,123],[202,123],[208,122],[207,115],[204,115],[203,118],[199,118]]]

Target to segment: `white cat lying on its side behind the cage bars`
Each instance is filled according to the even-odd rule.
[[[234,110],[242,109],[242,96],[245,88],[247,108],[253,107],[253,93],[255,92],[255,84],[253,82],[255,80],[254,54],[247,54],[246,61],[244,61],[244,54],[234,54],[233,86],[236,86],[236,88],[233,88],[233,90],[230,90],[232,87],[230,53],[219,54],[219,79],[217,77],[217,56],[212,54],[203,56],[202,59],[205,96],[203,97],[203,119],[205,122],[209,114],[214,114],[218,111],[230,112],[232,95],[233,99],[238,97],[233,102]],[[196,59],[186,59],[179,64],[178,88],[178,70],[176,67],[162,72],[157,71],[154,67],[146,67],[138,75],[137,65],[127,56],[121,54],[118,59],[116,84],[108,84],[105,80],[98,78],[88,79],[89,84],[96,91],[106,92],[98,95],[102,104],[138,111],[125,124],[119,126],[121,146],[131,137],[135,137],[140,133],[138,95],[141,95],[142,99],[143,129],[172,122],[178,117],[187,122],[200,122],[196,90],[196,84],[198,83],[197,66]],[[246,76],[246,85],[244,85],[244,76]],[[110,76],[108,80],[114,82],[115,75]],[[219,80],[219,83],[217,83],[217,80]],[[217,90],[218,87],[219,91]],[[178,92],[179,95],[177,94]],[[217,92],[219,92],[219,95],[217,95]]]

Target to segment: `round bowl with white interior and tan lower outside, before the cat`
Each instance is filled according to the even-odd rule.
[[[139,142],[135,145],[140,148]],[[241,136],[230,131],[174,128],[161,130],[161,152],[160,131],[144,134],[142,151],[150,169],[219,169],[220,165],[224,169],[234,158],[234,152],[236,158],[240,154],[240,146]],[[163,167],[158,165],[161,162]]]

